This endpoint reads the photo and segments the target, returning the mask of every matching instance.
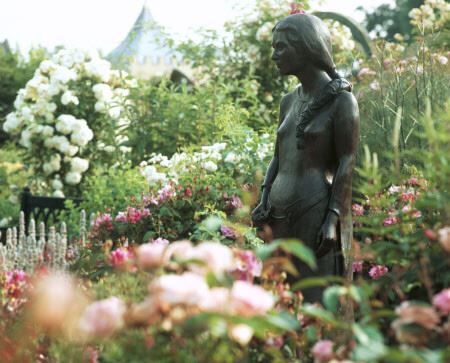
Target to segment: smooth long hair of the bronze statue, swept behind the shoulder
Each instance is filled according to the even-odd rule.
[[[275,31],[285,32],[291,45],[332,79],[340,78],[333,62],[330,32],[318,17],[309,14],[289,15],[275,25]]]

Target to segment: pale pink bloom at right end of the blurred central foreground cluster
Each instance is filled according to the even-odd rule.
[[[246,281],[235,281],[231,289],[232,311],[240,316],[264,315],[275,304],[272,294]]]

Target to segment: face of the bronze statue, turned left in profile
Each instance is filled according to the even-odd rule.
[[[275,30],[273,33],[272,60],[282,75],[297,75],[303,66],[303,57],[298,50],[289,43],[285,31]]]

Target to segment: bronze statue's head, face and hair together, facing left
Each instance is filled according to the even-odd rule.
[[[272,59],[282,74],[296,74],[305,63],[330,75],[335,72],[330,32],[316,16],[294,14],[284,18],[273,28],[272,45]]]

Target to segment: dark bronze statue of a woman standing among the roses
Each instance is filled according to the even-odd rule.
[[[282,75],[301,85],[280,105],[275,152],[253,210],[274,239],[299,239],[313,249],[318,269],[296,261],[300,278],[351,277],[352,173],[359,138],[358,104],[341,78],[324,23],[307,14],[290,15],[273,30],[273,56]],[[322,289],[303,291],[321,301]]]

